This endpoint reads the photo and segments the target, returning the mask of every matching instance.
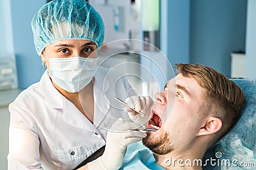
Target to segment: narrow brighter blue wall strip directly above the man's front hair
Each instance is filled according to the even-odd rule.
[[[167,56],[172,66],[189,62],[190,1],[168,0]]]

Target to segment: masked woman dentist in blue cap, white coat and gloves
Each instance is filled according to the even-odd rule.
[[[84,0],[54,0],[31,26],[47,69],[9,106],[8,169],[74,169],[105,145],[80,169],[119,169],[127,145],[147,134],[113,99],[129,97],[127,80],[97,68],[104,40],[99,13]]]

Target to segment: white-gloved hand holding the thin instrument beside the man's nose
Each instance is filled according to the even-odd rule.
[[[150,117],[150,110],[154,104],[154,101],[149,96],[132,96],[125,99],[130,108],[133,108],[136,111],[141,111],[147,116],[143,116],[140,113],[125,107],[124,111],[128,112],[129,117],[133,122],[143,125],[144,128],[147,127],[147,122]]]

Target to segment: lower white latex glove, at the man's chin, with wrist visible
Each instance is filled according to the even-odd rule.
[[[119,118],[109,129],[105,151],[101,157],[89,162],[88,170],[117,170],[122,166],[127,145],[141,141],[147,134],[140,124]]]

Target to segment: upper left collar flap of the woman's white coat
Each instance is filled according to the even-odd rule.
[[[45,98],[45,101],[52,108],[63,108],[63,102],[65,101],[65,97],[58,92],[57,89],[52,85],[51,78],[46,70],[42,75],[40,80],[40,85]]]

